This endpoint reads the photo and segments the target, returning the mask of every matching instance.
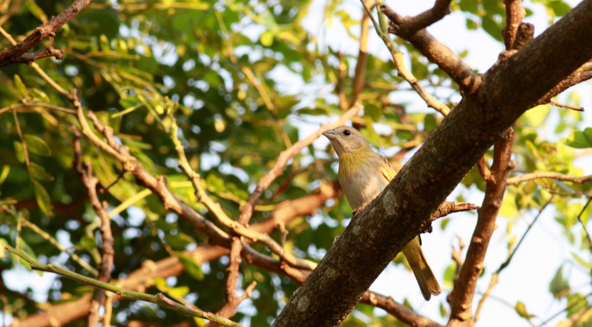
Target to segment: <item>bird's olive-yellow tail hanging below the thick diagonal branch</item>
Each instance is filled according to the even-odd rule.
[[[438,284],[436,276],[434,276],[432,269],[427,264],[426,256],[423,254],[419,242],[419,236],[412,239],[403,248],[403,254],[407,258],[411,270],[413,270],[417,284],[419,284],[419,288],[422,290],[423,298],[428,301],[432,297],[432,294],[440,294],[442,292],[440,284]]]

